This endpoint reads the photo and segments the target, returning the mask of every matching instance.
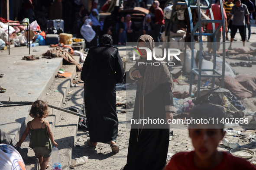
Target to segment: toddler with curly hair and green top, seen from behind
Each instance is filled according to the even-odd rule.
[[[34,149],[36,157],[39,158],[41,170],[45,170],[49,167],[48,162],[52,152],[52,144],[58,147],[58,144],[53,139],[49,122],[43,120],[43,118],[48,115],[48,106],[44,101],[38,100],[33,102],[29,116],[34,119],[27,123],[25,132],[15,145],[20,147],[29,134],[29,147]]]

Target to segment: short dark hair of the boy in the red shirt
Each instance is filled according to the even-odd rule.
[[[220,108],[222,107],[214,104],[200,104],[190,110],[188,120],[207,120],[207,122],[205,121],[203,123],[209,125],[209,129],[216,129],[216,126],[213,125],[224,129],[226,115],[224,110]],[[188,128],[194,128],[196,125],[197,123],[195,121],[191,121]]]

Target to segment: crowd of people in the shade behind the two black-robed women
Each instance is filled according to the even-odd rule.
[[[80,33],[82,35],[81,38],[86,40],[86,48],[97,45],[96,41],[91,39],[91,35],[87,36],[82,34],[86,27],[90,27],[88,26],[89,20],[92,21],[91,28],[94,31],[94,38],[98,40],[102,35],[107,34],[113,37],[113,44],[125,45],[126,42],[135,42],[140,35],[148,34],[151,35],[156,42],[160,42],[162,27],[165,22],[163,10],[159,5],[159,1],[155,0],[152,3],[152,13],[147,14],[137,26],[130,14],[124,15],[122,6],[115,6],[111,15],[107,16],[102,22],[100,21],[98,10],[96,8],[92,9],[89,15],[81,16],[81,20],[84,20],[84,25],[81,26]]]

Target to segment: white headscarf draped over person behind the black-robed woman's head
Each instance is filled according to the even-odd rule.
[[[81,35],[87,42],[91,42],[92,39],[95,37],[96,32],[92,29],[90,25],[91,19],[86,19],[84,21],[84,25],[80,29]]]

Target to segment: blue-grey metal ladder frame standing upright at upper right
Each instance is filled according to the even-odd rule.
[[[226,62],[226,44],[225,44],[225,40],[226,40],[226,34],[225,34],[225,20],[224,20],[224,11],[223,11],[223,4],[222,4],[222,0],[220,0],[220,12],[221,12],[221,18],[222,20],[214,20],[214,16],[212,13],[212,9],[211,9],[211,4],[213,2],[213,0],[210,0],[210,2],[208,0],[205,0],[205,2],[207,3],[207,6],[201,6],[200,5],[200,0],[185,0],[185,2],[178,2],[178,0],[175,0],[173,3],[173,10],[172,10],[172,15],[171,15],[171,19],[170,19],[170,24],[172,22],[172,18],[174,16],[174,12],[175,12],[175,7],[176,5],[186,5],[188,8],[188,14],[189,14],[189,20],[190,20],[190,27],[191,27],[191,75],[190,75],[190,88],[189,88],[189,96],[191,96],[191,91],[192,91],[192,82],[193,82],[193,74],[198,76],[198,93],[197,93],[197,97],[200,96],[200,86],[201,86],[201,78],[202,77],[210,77],[212,78],[212,88],[214,88],[214,82],[215,82],[215,78],[222,78],[221,79],[221,88],[224,88],[224,76],[225,76],[225,62]],[[199,4],[199,5],[198,5]],[[192,21],[192,13],[191,13],[191,9],[198,9],[198,22],[195,24],[195,26],[193,26],[193,21]],[[201,19],[201,9],[209,9],[210,12],[210,20],[207,19]],[[206,22],[206,23],[211,23],[212,24],[212,28],[213,28],[213,33],[203,33],[202,32],[202,22]],[[215,29],[215,23],[220,23],[220,25]],[[216,70],[216,34],[217,32],[220,30],[221,26],[223,26],[223,31],[222,31],[222,37],[223,37],[223,61],[222,61],[222,73],[218,72]],[[199,28],[199,32],[196,32],[196,30]],[[194,35],[199,36],[199,67],[198,69],[194,68]],[[202,42],[202,36],[206,35],[206,36],[213,36],[213,44],[214,44],[214,67],[213,69],[202,69],[202,50],[203,50],[203,42]],[[170,40],[170,33],[168,33],[168,41]],[[185,50],[186,50],[186,45],[185,45]],[[186,53],[185,53],[186,54]],[[186,56],[185,56],[186,57]],[[184,59],[185,59],[184,57]],[[185,61],[184,61],[185,63]],[[184,65],[185,66],[185,65]],[[202,74],[202,71],[211,71],[212,74],[211,75],[206,75],[206,74]]]

